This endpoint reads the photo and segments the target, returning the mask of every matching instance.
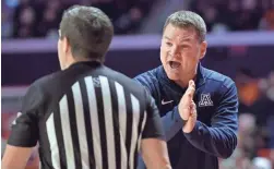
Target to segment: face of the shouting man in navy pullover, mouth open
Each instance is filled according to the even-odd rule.
[[[179,82],[194,75],[196,65],[205,55],[206,43],[200,41],[194,28],[180,28],[168,24],[160,45],[160,61],[168,79]]]

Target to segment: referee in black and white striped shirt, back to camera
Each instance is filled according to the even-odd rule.
[[[2,169],[23,169],[37,143],[43,169],[134,169],[140,150],[147,168],[170,168],[152,97],[103,64],[114,36],[108,16],[74,5],[59,34],[62,71],[28,88]]]

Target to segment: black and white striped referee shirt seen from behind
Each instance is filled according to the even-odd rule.
[[[141,140],[163,136],[144,88],[100,63],[79,62],[31,85],[8,144],[38,142],[43,169],[134,169]]]

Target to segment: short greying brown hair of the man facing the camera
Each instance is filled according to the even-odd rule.
[[[164,31],[168,24],[178,26],[180,28],[194,28],[200,41],[205,39],[206,25],[204,20],[196,13],[191,11],[178,11],[172,13],[166,20]]]

